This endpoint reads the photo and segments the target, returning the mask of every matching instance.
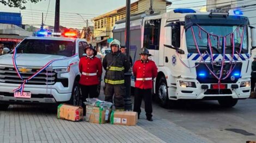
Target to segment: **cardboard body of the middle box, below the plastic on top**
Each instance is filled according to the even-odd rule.
[[[111,109],[103,109],[96,106],[86,105],[86,121],[96,124],[105,124],[109,121]]]

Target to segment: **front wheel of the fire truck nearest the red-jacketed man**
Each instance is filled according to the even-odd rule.
[[[159,99],[160,106],[163,108],[169,107],[168,89],[167,82],[164,77],[161,77],[157,84],[156,95]]]

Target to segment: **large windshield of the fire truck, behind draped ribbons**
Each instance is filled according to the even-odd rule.
[[[198,48],[200,49],[200,53],[205,53],[206,51],[210,53],[209,42],[208,42],[209,34],[211,35],[210,43],[211,43],[213,54],[223,54],[224,46],[225,46],[225,54],[232,54],[233,43],[235,48],[235,54],[239,53],[241,43],[242,43],[241,54],[248,53],[247,30],[245,30],[243,41],[241,41],[244,25],[230,25],[230,24],[228,25],[223,25],[223,24],[197,25],[197,24],[194,24],[192,28],[194,31],[194,37],[196,38],[196,41],[198,44]],[[216,35],[216,36],[212,36],[212,35]],[[224,40],[222,36],[225,36],[226,40]],[[231,42],[232,41],[231,37],[234,37],[234,42]],[[196,44],[194,43],[194,40],[193,40],[193,34],[192,34],[191,28],[188,28],[186,30],[186,44],[187,44],[188,53],[198,53]]]

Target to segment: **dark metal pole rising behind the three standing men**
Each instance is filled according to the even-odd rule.
[[[126,49],[126,55],[128,56],[128,59],[130,60],[130,10],[131,10],[131,1],[126,0],[126,31],[125,31],[125,47]],[[125,75],[125,86],[126,86],[126,94],[125,94],[125,111],[131,111],[132,110],[132,101],[131,101],[131,69]]]

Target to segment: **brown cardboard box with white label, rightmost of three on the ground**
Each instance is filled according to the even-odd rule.
[[[118,111],[111,113],[111,124],[135,126],[138,122],[137,112]]]

